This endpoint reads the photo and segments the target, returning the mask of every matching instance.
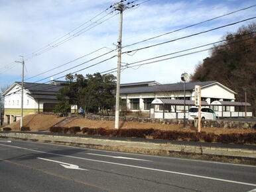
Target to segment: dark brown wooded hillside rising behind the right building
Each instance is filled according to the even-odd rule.
[[[235,91],[236,101],[251,103],[256,111],[256,23],[243,26],[224,36],[225,41],[212,49],[211,56],[196,66],[192,81],[216,80]]]

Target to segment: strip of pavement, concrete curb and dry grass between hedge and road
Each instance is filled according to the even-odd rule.
[[[229,162],[233,159],[247,164],[256,164],[256,146],[239,144],[218,144],[207,142],[184,142],[153,140],[143,138],[118,138],[90,136],[86,134],[54,134],[46,132],[0,132],[2,138],[19,138],[115,150],[119,152],[137,152],[165,156],[190,156],[192,158],[220,159]]]

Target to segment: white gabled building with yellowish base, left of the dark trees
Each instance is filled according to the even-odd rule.
[[[56,94],[64,87],[62,81],[50,84],[24,83],[23,115],[39,111],[50,112],[58,103]],[[21,82],[15,82],[2,94],[5,97],[4,123],[9,124],[21,118]]]

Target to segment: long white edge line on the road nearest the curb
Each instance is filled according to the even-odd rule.
[[[18,142],[18,140],[15,140],[15,142],[16,141]],[[31,141],[19,140],[19,142],[31,142]],[[76,147],[76,146],[66,146],[66,145],[62,145],[62,144],[50,144],[50,143],[43,143],[43,142],[31,142],[31,143],[46,144],[46,145],[52,145],[52,146],[62,146],[62,147],[68,147],[68,148],[77,148],[77,149],[83,149],[83,150],[86,149],[86,150],[91,150],[91,151],[96,151],[96,152],[128,154],[128,155],[133,155],[133,156],[147,156],[147,157],[151,157],[151,158],[156,157],[156,156],[147,155],[147,154],[132,154],[132,153],[127,153],[127,152],[113,152],[113,151],[107,151],[107,150],[97,150],[97,149],[82,148],[82,147]],[[190,159],[186,159],[186,158],[173,158],[173,157],[166,157],[166,156],[157,156],[157,158],[166,158],[166,159],[189,161],[189,162],[202,162],[202,163],[207,163],[207,164],[224,164],[224,165],[228,165],[228,166],[243,166],[243,167],[256,168],[256,166],[253,166],[253,165],[231,164],[231,163],[224,163],[224,162],[212,162],[212,161],[207,161],[207,160],[190,160]]]

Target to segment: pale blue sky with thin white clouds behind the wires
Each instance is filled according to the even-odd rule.
[[[81,70],[78,73],[86,75],[116,68],[115,48],[117,48],[119,36],[119,13],[109,8],[116,2],[112,0],[0,0],[0,87],[21,81],[22,64],[19,63],[21,61],[19,56],[25,57],[25,81],[32,83],[48,83],[50,79],[58,79],[78,70]],[[124,3],[129,2],[131,0],[124,1]],[[137,6],[123,11],[122,51],[136,50],[255,17],[256,7],[252,7],[214,21],[127,46],[254,4],[255,1],[250,0],[137,0],[129,4],[130,7]],[[235,32],[240,26],[253,21],[256,20],[252,19],[190,38],[122,54],[121,83],[139,81],[176,83],[180,81],[182,73],[192,74],[196,66],[210,56],[211,52],[199,52],[133,68],[125,69],[125,66],[222,40],[227,32]],[[204,48],[210,47],[212,46]],[[164,58],[204,48],[172,54]],[[107,52],[110,53],[105,54]],[[101,56],[102,54],[105,56]],[[109,59],[112,56],[115,57]],[[72,60],[76,61],[71,62]],[[102,62],[103,60],[106,61]],[[101,63],[97,64],[99,62]],[[145,62],[138,64],[143,63]],[[56,68],[62,64],[66,65]],[[79,64],[81,65],[78,66]],[[93,64],[97,65],[82,70]],[[54,68],[56,69],[53,70]],[[56,73],[59,74],[56,75]],[[116,75],[116,72],[113,72],[113,75]]]

